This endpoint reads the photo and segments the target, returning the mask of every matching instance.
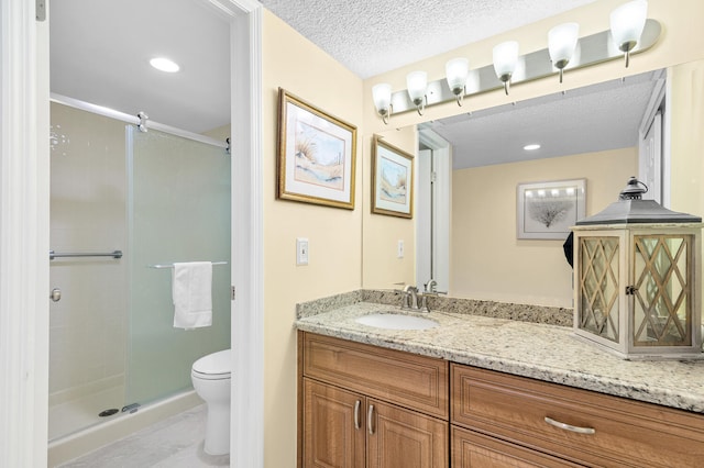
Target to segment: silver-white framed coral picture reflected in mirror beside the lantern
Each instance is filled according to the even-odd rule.
[[[517,187],[517,237],[562,239],[585,215],[586,180],[519,183]]]

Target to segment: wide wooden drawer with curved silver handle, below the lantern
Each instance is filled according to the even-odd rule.
[[[453,423],[578,463],[695,467],[704,459],[701,414],[462,365],[452,365],[452,398]]]

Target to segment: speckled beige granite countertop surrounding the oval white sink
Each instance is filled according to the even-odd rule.
[[[329,305],[329,304],[328,304]],[[634,400],[704,413],[704,360],[625,360],[585,343],[568,326],[431,310],[403,312],[376,302],[336,304],[300,313],[298,330],[399,349]],[[438,322],[422,331],[362,325],[375,312]]]

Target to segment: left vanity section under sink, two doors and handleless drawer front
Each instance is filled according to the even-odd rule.
[[[449,466],[449,366],[299,334],[302,467]]]

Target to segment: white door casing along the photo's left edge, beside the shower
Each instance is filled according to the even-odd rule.
[[[0,466],[45,467],[48,24],[33,1],[0,9]]]

